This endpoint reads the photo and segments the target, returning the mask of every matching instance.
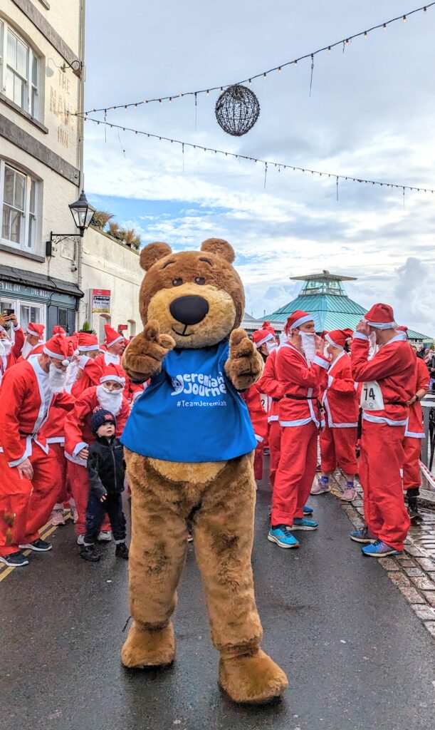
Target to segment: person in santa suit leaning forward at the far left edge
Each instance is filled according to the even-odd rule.
[[[54,457],[41,430],[52,407],[74,405],[63,391],[67,356],[65,338],[52,337],[41,355],[9,368],[1,384],[0,514],[15,519],[9,531],[0,519],[0,561],[11,567],[28,564],[23,548],[52,547],[39,537],[55,502]]]

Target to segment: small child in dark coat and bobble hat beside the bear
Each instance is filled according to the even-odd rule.
[[[90,446],[87,458],[90,491],[85,540],[80,555],[93,563],[101,559],[101,555],[95,550],[95,540],[107,512],[116,544],[115,555],[128,560],[125,517],[122,512],[125,463],[122,444],[114,435],[116,419],[110,411],[95,409],[90,426],[96,438]]]

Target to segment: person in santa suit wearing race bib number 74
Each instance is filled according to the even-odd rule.
[[[366,525],[350,533],[373,558],[401,553],[409,529],[401,480],[408,402],[415,395],[415,355],[397,331],[389,304],[374,304],[353,333],[350,361],[361,383],[359,478]],[[370,337],[377,352],[369,359]]]

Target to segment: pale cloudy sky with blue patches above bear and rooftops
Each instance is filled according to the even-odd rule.
[[[416,7],[418,0],[88,0],[85,108],[229,85]],[[122,8],[122,12],[119,12]],[[184,142],[350,177],[435,188],[435,7],[251,85],[259,120],[243,137],[216,122],[218,92],[108,112]],[[103,119],[103,113],[93,115]],[[184,158],[184,159],[183,159]],[[230,241],[246,312],[297,296],[292,276],[357,277],[350,297],[392,304],[435,337],[435,193],[409,193],[204,153],[91,121],[85,188],[144,244]]]

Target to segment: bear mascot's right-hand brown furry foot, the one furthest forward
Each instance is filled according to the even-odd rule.
[[[232,658],[221,657],[219,684],[234,702],[263,704],[279,697],[289,681],[261,649]]]

